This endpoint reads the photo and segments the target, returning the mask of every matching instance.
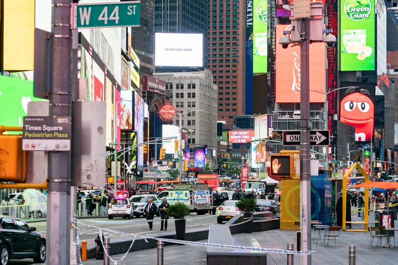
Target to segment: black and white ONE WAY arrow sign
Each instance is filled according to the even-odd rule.
[[[328,146],[329,145],[329,131],[328,130],[313,130],[310,131],[310,144],[313,146]],[[297,146],[300,145],[300,131],[283,131],[283,145]]]

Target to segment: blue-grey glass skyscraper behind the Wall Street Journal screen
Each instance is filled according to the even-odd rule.
[[[206,67],[206,0],[154,0],[154,29],[164,33],[202,33]]]

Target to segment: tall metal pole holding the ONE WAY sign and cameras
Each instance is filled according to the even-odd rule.
[[[301,251],[311,250],[311,171],[309,119],[309,17],[302,18],[304,39],[300,44],[301,91],[300,91],[300,197],[301,197]],[[310,265],[311,255],[302,255],[301,264]]]

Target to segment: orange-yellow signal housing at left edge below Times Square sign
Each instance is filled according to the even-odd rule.
[[[25,181],[26,152],[22,151],[22,136],[0,136],[0,164],[0,179]]]

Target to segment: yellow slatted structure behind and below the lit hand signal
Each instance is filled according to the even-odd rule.
[[[300,159],[298,150],[282,150],[281,155],[293,155]],[[281,230],[296,230],[295,221],[300,221],[300,176],[296,175],[294,164],[293,177],[281,177]]]

